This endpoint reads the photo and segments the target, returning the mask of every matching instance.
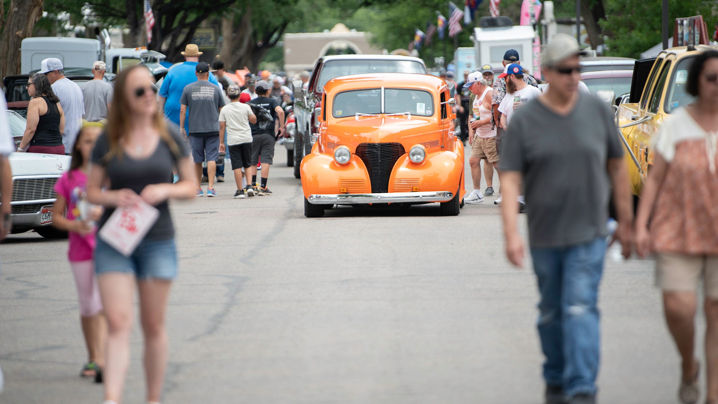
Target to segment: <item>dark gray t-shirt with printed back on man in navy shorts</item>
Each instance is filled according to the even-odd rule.
[[[182,90],[180,104],[187,105],[190,122],[187,134],[205,136],[218,134],[220,131],[220,107],[224,106],[222,90],[207,80],[197,80],[185,85]]]

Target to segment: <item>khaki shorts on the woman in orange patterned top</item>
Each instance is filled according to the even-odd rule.
[[[703,278],[706,296],[718,299],[718,255],[656,254],[656,286],[663,291],[690,291]]]

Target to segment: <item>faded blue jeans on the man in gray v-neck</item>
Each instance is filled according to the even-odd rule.
[[[562,248],[531,248],[538,278],[538,335],[544,379],[568,398],[596,393],[600,326],[596,306],[606,239]]]

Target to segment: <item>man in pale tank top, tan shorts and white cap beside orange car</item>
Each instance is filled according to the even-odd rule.
[[[464,85],[476,95],[469,111],[469,143],[471,144],[469,164],[474,189],[464,197],[464,202],[468,204],[484,202],[481,192],[481,159],[486,159],[494,167],[498,165],[496,128],[491,124],[492,84],[482,77],[481,72],[472,72]]]

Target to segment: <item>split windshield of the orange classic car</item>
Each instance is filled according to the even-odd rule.
[[[408,88],[385,88],[384,111],[381,111],[381,88],[344,91],[334,98],[332,116],[345,118],[360,114],[434,115],[434,98],[428,91]]]

